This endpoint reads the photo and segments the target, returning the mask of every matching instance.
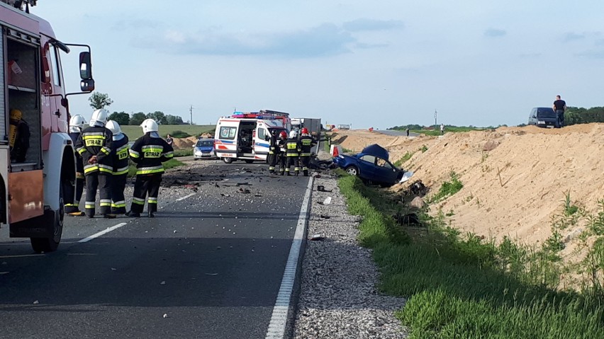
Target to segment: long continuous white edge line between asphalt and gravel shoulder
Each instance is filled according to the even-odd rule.
[[[266,339],[286,338],[286,333],[293,330],[293,317],[296,314],[296,305],[291,303],[292,296],[300,290],[300,276],[302,270],[302,258],[306,248],[306,230],[308,217],[311,213],[311,195],[315,178],[308,179],[306,194],[302,200],[302,207],[298,217],[296,233],[291,241],[291,248],[287,257],[287,263],[281,279],[281,287],[273,307],[271,321],[267,330]]]

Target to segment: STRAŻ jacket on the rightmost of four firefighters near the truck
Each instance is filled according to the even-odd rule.
[[[137,176],[164,173],[162,162],[174,158],[174,149],[157,132],[148,132],[136,139],[129,153],[136,163]]]

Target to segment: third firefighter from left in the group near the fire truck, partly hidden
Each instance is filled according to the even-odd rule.
[[[107,128],[113,133],[113,179],[111,180],[111,214],[125,214],[124,189],[128,177],[128,136],[118,122],[109,120]]]

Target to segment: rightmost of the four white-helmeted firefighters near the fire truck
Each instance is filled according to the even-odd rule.
[[[155,120],[146,119],[140,127],[145,135],[136,139],[130,148],[130,159],[136,163],[136,181],[132,205],[127,215],[140,217],[148,193],[147,215],[152,218],[157,211],[157,196],[160,194],[160,183],[164,173],[162,162],[174,157],[174,149],[157,133],[159,129]]]

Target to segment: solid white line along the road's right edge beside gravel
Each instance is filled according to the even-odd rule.
[[[293,292],[293,283],[296,281],[296,270],[298,270],[298,257],[300,256],[302,241],[304,241],[308,209],[311,207],[313,181],[314,178],[311,177],[306,186],[306,194],[304,195],[304,200],[302,200],[302,207],[298,217],[298,226],[296,226],[296,233],[293,235],[293,241],[291,241],[291,248],[287,257],[283,279],[281,280],[281,287],[279,287],[279,294],[277,294],[269,329],[265,337],[267,339],[282,339],[285,337],[291,293]]]

